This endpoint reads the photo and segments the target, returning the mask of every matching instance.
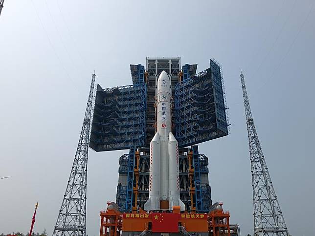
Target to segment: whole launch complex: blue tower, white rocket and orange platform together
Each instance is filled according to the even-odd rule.
[[[130,69],[132,85],[97,85],[90,148],[129,150],[100,236],[238,235],[212,203],[208,158],[196,145],[228,135],[220,64],[196,73],[180,57],[146,58]]]

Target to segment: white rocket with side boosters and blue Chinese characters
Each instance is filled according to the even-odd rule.
[[[171,132],[172,88],[169,76],[162,71],[158,77],[157,133],[150,143],[149,200],[145,211],[167,211],[179,206],[180,200],[179,148]]]

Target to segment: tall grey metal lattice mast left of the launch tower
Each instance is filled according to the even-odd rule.
[[[95,74],[92,75],[89,99],[79,144],[75,153],[66,193],[61,204],[53,236],[86,235],[87,168],[94,82]]]

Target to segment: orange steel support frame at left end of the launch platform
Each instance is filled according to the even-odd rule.
[[[111,202],[107,203],[108,206],[111,205]],[[122,230],[122,215],[121,213],[109,207],[106,211],[101,211],[101,228],[100,236],[119,236]]]

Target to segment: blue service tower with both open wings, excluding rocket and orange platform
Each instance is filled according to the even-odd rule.
[[[149,196],[149,147],[157,131],[157,80],[171,79],[171,129],[179,142],[180,199],[188,211],[207,213],[212,205],[208,158],[192,146],[228,135],[222,67],[214,59],[197,73],[197,64],[180,57],[146,58],[131,64],[133,85],[97,85],[90,136],[95,151],[129,150],[119,159],[116,203],[121,212],[143,209]]]

